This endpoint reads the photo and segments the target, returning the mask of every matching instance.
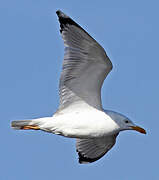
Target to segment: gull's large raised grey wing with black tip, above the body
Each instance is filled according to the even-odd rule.
[[[101,86],[112,63],[84,29],[63,12],[56,13],[66,47],[59,84],[59,109],[77,101],[102,109]]]

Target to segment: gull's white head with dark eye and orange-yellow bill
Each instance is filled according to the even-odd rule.
[[[114,112],[114,111],[109,111],[109,110],[104,110],[104,112],[111,117],[111,119],[113,119],[119,126],[119,131],[123,131],[123,130],[136,130],[140,133],[146,134],[146,131],[135,125],[129,118],[127,118],[126,116]]]

